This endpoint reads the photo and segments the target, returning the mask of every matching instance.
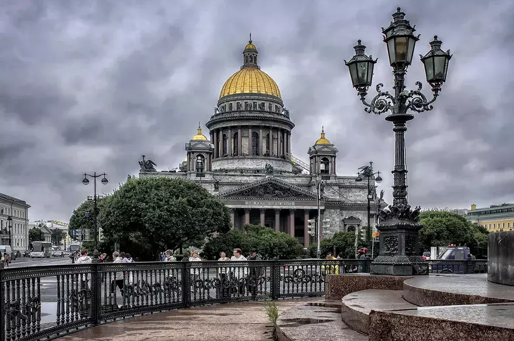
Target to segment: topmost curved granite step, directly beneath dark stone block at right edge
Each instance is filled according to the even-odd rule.
[[[487,281],[487,274],[430,275],[403,282],[403,298],[422,307],[514,302],[514,288]]]

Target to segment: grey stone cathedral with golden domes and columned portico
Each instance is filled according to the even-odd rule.
[[[291,155],[295,124],[277,83],[261,70],[251,40],[243,51],[243,66],[223,85],[206,127],[209,137],[198,126],[177,170],[157,172],[156,164],[143,157],[139,177],[197,182],[230,208],[235,229],[260,223],[289,233],[307,247],[314,241],[307,220],[318,214],[319,175],[322,219],[331,220],[331,229],[353,231],[367,224],[368,182],[337,175],[338,150],[323,130],[307,151],[308,164]],[[385,203],[377,197],[373,179],[371,184],[374,225],[377,208]]]

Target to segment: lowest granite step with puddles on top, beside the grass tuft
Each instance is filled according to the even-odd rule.
[[[336,307],[298,304],[280,313],[277,320],[279,341],[368,341],[368,336],[341,321]]]

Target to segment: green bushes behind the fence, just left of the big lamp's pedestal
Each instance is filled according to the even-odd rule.
[[[361,231],[364,232],[364,229]],[[325,258],[329,252],[334,252],[334,246],[336,247],[335,257],[355,258],[355,232],[341,231],[337,232],[332,238],[322,239],[320,243],[321,258]],[[365,246],[366,242],[359,238],[357,240],[357,248],[360,249]],[[309,245],[308,253],[311,258],[316,258],[317,247],[317,243]]]

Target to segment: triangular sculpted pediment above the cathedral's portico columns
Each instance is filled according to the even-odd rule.
[[[316,200],[316,194],[303,188],[275,178],[266,178],[244,185],[235,190],[219,193],[220,199],[253,198],[253,199],[307,199]]]

